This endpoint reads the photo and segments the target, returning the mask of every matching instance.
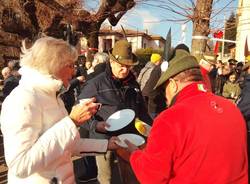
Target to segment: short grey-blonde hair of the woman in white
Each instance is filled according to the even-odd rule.
[[[28,66],[43,74],[54,75],[67,64],[77,60],[77,50],[62,39],[42,37],[27,49],[22,42],[21,66]]]

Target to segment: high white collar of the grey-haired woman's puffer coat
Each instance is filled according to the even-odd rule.
[[[19,70],[21,74],[20,85],[31,86],[48,94],[56,94],[61,90],[63,82],[52,75],[42,74],[30,67],[23,66]]]

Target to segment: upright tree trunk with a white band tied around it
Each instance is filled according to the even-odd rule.
[[[193,14],[193,36],[191,52],[200,57],[206,51],[207,36],[210,33],[210,16],[213,0],[197,0]]]

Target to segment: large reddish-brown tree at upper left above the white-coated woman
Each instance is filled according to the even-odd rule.
[[[97,11],[83,8],[80,0],[1,0],[0,60],[17,58],[20,41],[34,40],[40,33],[65,38],[78,32],[98,48],[98,32],[108,19],[115,26],[135,6],[134,0],[100,0]],[[77,35],[70,35],[70,38]],[[68,38],[69,39],[69,38]],[[14,50],[12,54],[8,50]],[[1,61],[0,61],[1,62]]]

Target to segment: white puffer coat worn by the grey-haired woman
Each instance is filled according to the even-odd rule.
[[[60,80],[23,67],[19,86],[5,99],[1,130],[10,184],[75,183],[71,156],[105,152],[107,140],[80,139],[57,96]]]

